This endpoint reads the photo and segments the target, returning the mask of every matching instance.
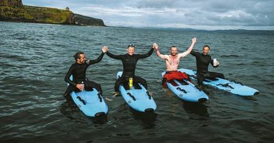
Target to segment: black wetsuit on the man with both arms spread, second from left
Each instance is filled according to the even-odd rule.
[[[130,56],[129,54],[114,55],[110,52],[106,52],[106,54],[108,54],[108,56],[112,59],[119,59],[123,63],[123,74],[115,82],[114,90],[116,92],[119,91],[120,84],[127,83],[129,77],[133,78],[133,84],[141,83],[147,89],[147,81],[143,78],[135,76],[135,69],[138,59],[145,59],[149,57],[152,53],[153,48],[151,48],[151,50],[149,50],[147,54],[132,54],[132,56]]]

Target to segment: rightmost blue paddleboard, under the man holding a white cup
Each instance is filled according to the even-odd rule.
[[[179,69],[179,71],[188,74],[192,80],[197,80],[197,71],[191,69]],[[203,80],[203,84],[210,85],[217,89],[222,89],[241,96],[252,96],[258,95],[260,93],[256,89],[242,85],[240,82],[229,81],[222,78],[216,78],[216,80],[205,79]]]

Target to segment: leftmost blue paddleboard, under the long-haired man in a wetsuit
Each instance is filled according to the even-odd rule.
[[[72,76],[70,79],[72,80]],[[93,88],[92,91],[84,90],[79,93],[73,91],[71,92],[71,97],[86,116],[95,117],[102,114],[108,114],[108,105],[95,88]]]

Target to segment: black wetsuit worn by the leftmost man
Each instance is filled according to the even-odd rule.
[[[99,93],[102,93],[102,89],[100,84],[97,84],[96,82],[92,82],[86,78],[86,69],[88,66],[99,63],[101,59],[103,58],[103,52],[100,54],[100,56],[95,60],[87,60],[83,64],[79,64],[77,62],[73,63],[71,67],[69,68],[69,72],[66,73],[66,77],[64,80],[69,83],[68,88],[66,89],[66,92],[64,93],[64,96],[69,95],[72,91],[80,92],[79,89],[77,89],[76,84],[84,84],[86,91],[91,91],[93,87],[97,89]],[[70,80],[69,77],[73,76],[73,80]]]

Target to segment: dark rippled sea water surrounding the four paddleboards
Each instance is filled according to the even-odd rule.
[[[101,84],[109,112],[88,118],[62,96],[64,76],[81,50],[96,59],[103,46],[125,54],[128,44],[145,54],[159,44],[162,54],[170,46],[187,50],[197,37],[195,50],[211,47],[220,62],[210,71],[221,72],[260,91],[240,97],[204,86],[210,99],[204,104],[182,101],[161,86],[166,65],[155,52],[140,59],[136,75],[145,78],[158,108],[155,114],[130,109],[123,97],[113,97],[121,61],[104,55],[88,67],[89,80]],[[0,142],[273,142],[274,140],[274,35],[79,27],[0,22]],[[188,55],[179,67],[195,69]],[[196,84],[196,83],[195,83]]]

